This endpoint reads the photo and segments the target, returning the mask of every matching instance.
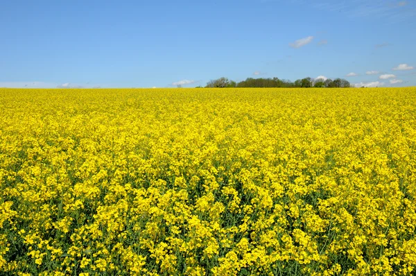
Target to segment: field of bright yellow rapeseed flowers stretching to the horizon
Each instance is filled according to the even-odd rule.
[[[0,89],[0,275],[415,275],[416,87]]]

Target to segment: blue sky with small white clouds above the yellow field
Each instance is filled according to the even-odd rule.
[[[0,87],[413,86],[415,30],[415,0],[3,1]]]

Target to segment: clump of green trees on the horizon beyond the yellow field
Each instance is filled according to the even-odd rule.
[[[228,78],[210,80],[205,87],[352,87],[348,80],[336,78],[335,80],[323,78],[302,78],[291,82],[279,78],[247,78],[239,83]]]

